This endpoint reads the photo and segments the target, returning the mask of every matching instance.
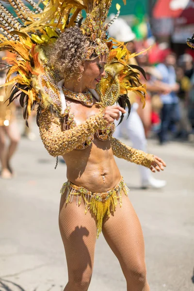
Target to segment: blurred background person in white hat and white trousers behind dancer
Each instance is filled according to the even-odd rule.
[[[111,17],[113,18],[114,15]],[[116,40],[124,42],[131,53],[135,52],[135,34],[131,31],[129,25],[124,19],[117,18],[109,28],[109,34]],[[135,58],[130,59],[130,62],[130,64],[137,65]],[[130,92],[128,97],[131,103],[131,112],[128,119],[124,117],[122,122],[122,129],[126,129],[127,136],[131,140],[133,147],[146,152],[147,141],[142,120],[137,113],[137,109],[139,107],[139,104],[137,103],[137,96],[134,92]],[[118,122],[116,123],[115,121],[115,125],[117,124]],[[114,137],[118,138],[121,135],[120,130],[120,126],[116,127]],[[146,189],[149,186],[153,188],[162,188],[166,185],[166,181],[153,178],[150,171],[147,171],[145,167],[138,167],[141,176],[141,187],[143,189]]]

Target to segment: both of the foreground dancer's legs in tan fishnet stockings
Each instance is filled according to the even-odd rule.
[[[76,205],[65,203],[61,197],[59,227],[65,247],[68,283],[64,291],[87,291],[91,281],[97,238],[96,219],[85,213],[83,200]],[[139,219],[129,201],[122,195],[123,204],[103,222],[102,232],[118,258],[127,281],[127,291],[149,291],[146,280],[144,238]]]

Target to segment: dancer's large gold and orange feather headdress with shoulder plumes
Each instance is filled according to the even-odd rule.
[[[126,0],[123,1],[126,3]],[[44,0],[43,2],[40,0],[38,4],[33,0],[27,0],[32,10],[22,0],[4,2],[9,3],[17,15],[16,18],[12,16],[0,3],[0,31],[2,32],[0,50],[15,53],[12,59],[7,59],[10,68],[5,85],[14,84],[10,102],[20,97],[25,119],[31,114],[36,103],[41,105],[39,108],[43,108],[43,103],[44,108],[53,106],[52,99],[42,92],[39,84],[39,76],[45,74],[45,66],[48,63],[44,48],[55,42],[65,29],[75,25],[80,27],[88,39],[86,60],[97,58],[103,53],[110,53],[105,68],[107,78],[102,79],[97,88],[101,103],[108,104],[108,101],[105,102],[107,96],[111,100],[108,105],[112,105],[117,100],[123,102],[123,96],[127,96],[131,90],[136,91],[144,101],[146,89],[139,81],[137,67],[133,68],[128,64],[129,58],[134,55],[130,55],[123,43],[107,39],[106,36],[110,24],[104,22],[112,0]],[[43,9],[39,6],[41,2],[44,4]],[[83,23],[81,23],[82,10],[86,12]],[[51,74],[54,76],[54,73]],[[49,76],[45,78],[47,77],[49,78]],[[50,90],[54,92],[52,86],[48,88],[48,91]]]

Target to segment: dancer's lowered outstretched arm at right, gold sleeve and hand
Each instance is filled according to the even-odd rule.
[[[112,137],[111,146],[113,150],[113,155],[117,158],[127,160],[129,162],[134,162],[138,165],[145,166],[149,168],[152,172],[163,171],[163,167],[166,166],[165,162],[157,156],[146,154],[142,150],[126,146],[116,138]]]

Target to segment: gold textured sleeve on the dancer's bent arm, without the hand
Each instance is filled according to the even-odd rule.
[[[83,143],[97,129],[103,128],[108,122],[103,113],[88,118],[80,126],[63,131],[60,118],[49,110],[39,117],[40,137],[49,154],[53,157],[62,156]]]

